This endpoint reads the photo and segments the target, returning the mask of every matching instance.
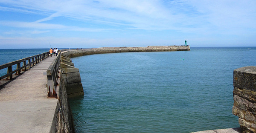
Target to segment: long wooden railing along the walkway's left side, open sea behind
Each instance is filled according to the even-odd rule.
[[[30,57],[27,57],[27,58],[23,58],[23,59],[20,59],[20,60],[17,60],[17,61],[12,61],[12,62],[9,62],[7,64],[0,65],[0,70],[8,68],[7,69],[7,74],[1,76],[0,80],[3,79],[3,78],[6,78],[7,80],[12,80],[13,73],[15,73],[16,75],[19,75],[21,70],[26,71],[27,69],[35,66],[35,64],[38,64],[40,61],[43,61],[48,56],[49,56],[49,52],[44,52],[44,53],[39,54],[39,55],[30,56]],[[22,67],[20,66],[21,63],[23,63]],[[15,70],[12,70],[12,67],[14,65],[17,65],[17,67],[16,67]]]

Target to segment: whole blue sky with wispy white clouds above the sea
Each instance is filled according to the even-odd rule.
[[[0,0],[0,49],[256,46],[256,0]]]

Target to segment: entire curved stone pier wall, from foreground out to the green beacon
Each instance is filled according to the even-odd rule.
[[[61,75],[58,89],[58,105],[52,121],[51,133],[74,133],[73,116],[68,98],[84,95],[79,69],[74,67],[70,57],[113,53],[190,50],[189,46],[148,46],[148,47],[109,47],[95,49],[68,50],[61,53]]]

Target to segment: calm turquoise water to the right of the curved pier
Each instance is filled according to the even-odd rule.
[[[248,49],[249,48],[249,49]],[[233,70],[256,47],[191,47],[72,58],[84,96],[70,99],[76,133],[189,133],[239,127]]]

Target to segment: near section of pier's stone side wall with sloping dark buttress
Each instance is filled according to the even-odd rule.
[[[74,67],[70,58],[61,55],[60,78],[57,86],[58,104],[50,133],[74,133],[73,116],[68,98],[84,95],[79,69]]]

